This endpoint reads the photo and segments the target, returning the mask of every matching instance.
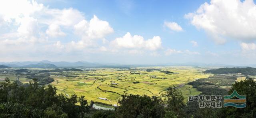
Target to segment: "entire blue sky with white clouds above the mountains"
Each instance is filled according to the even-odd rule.
[[[1,0],[0,62],[256,64],[253,0]]]

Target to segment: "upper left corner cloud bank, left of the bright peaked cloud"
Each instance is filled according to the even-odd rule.
[[[0,24],[8,24],[6,26],[9,26],[11,30],[6,34],[17,34],[14,35],[16,37],[2,34],[7,39],[30,40],[30,38],[36,38],[35,40],[41,40],[40,38],[45,34],[52,37],[65,36],[60,26],[70,28],[83,19],[84,15],[73,8],[52,9],[44,4],[38,4],[35,0],[0,2]],[[48,26],[46,31],[44,30],[45,26]]]

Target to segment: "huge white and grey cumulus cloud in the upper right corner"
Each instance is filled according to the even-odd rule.
[[[192,25],[205,30],[217,44],[226,38],[256,39],[256,5],[253,0],[211,0],[196,12],[188,13]]]

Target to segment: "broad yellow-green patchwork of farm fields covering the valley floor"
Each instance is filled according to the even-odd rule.
[[[158,70],[147,71],[147,68],[96,68],[81,72],[68,72],[67,76],[57,73],[51,74],[54,82],[51,84],[58,88],[58,93],[66,96],[77,94],[94,102],[117,104],[122,94],[146,94],[164,98],[168,87],[175,86],[182,91],[184,98],[188,95],[200,94],[195,88],[186,83],[199,78],[208,78],[212,74],[204,74],[204,68],[192,67],[151,67]],[[166,74],[164,71],[173,73]],[[75,76],[74,76],[75,75]],[[107,98],[101,100],[98,98]],[[185,99],[186,101],[187,99]]]

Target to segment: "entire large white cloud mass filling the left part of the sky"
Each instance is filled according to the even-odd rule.
[[[44,48],[48,48],[44,51],[50,53],[61,52],[61,50],[63,52],[82,51],[86,47],[104,51],[106,49],[98,46],[95,39],[103,39],[114,32],[107,21],[100,20],[96,15],[87,21],[84,13],[79,10],[50,8],[35,0],[0,2],[0,27],[3,26],[4,29],[10,29],[0,34],[0,49],[5,50],[6,54],[14,53],[14,50],[7,50],[7,48],[18,48],[19,50],[15,52],[28,52],[27,54],[30,54],[31,49]],[[72,38],[78,36],[78,39],[72,39],[73,41],[66,39],[67,35]],[[65,41],[56,42],[52,39],[60,36]],[[107,40],[105,42],[107,43]],[[40,53],[44,52],[40,51]]]

